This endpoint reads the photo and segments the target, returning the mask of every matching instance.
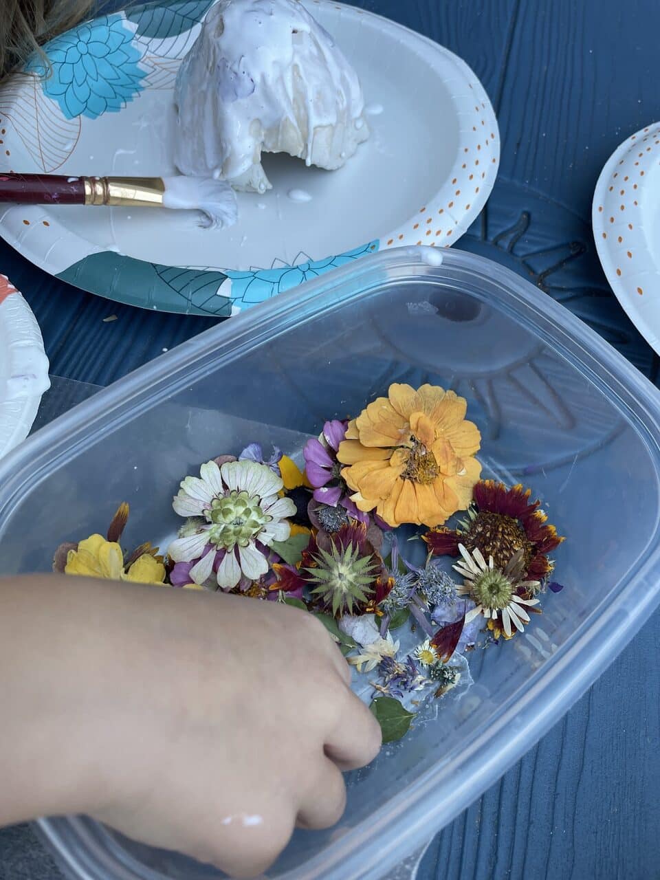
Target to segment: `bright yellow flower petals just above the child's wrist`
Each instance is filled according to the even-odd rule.
[[[134,581],[136,583],[163,583],[165,566],[151,554],[138,556],[124,571],[124,554],[121,546],[101,535],[91,535],[80,541],[77,550],[70,550],[64,567],[67,575],[100,577],[111,581]]]

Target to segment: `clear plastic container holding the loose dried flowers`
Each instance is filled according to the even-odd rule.
[[[474,651],[472,688],[349,777],[340,825],[297,832],[268,877],[387,874],[519,759],[647,619],[659,598],[660,395],[507,269],[413,248],[216,326],[0,464],[0,570],[45,571],[57,544],[102,530],[122,500],[136,501],[128,543],[165,537],[172,492],[201,461],[248,441],[297,448],[392,381],[466,396],[486,473],[530,485],[568,536],[556,553],[565,589],[524,635]],[[40,825],[70,877],[216,876],[85,818]]]

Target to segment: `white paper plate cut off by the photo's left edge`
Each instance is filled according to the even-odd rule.
[[[0,275],[0,456],[26,439],[49,386],[39,325],[18,290]]]

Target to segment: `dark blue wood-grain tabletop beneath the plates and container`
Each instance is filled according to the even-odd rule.
[[[621,311],[590,231],[598,172],[660,119],[652,0],[363,0],[466,59],[502,132],[500,179],[460,246],[568,306],[656,384],[658,358]],[[0,269],[40,322],[52,371],[106,385],[210,326],[55,281],[0,242]],[[117,320],[103,323],[114,314]],[[524,759],[437,835],[419,880],[660,877],[660,612]],[[23,828],[0,832],[0,878],[55,880]]]

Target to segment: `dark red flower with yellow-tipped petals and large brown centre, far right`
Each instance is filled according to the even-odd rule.
[[[432,529],[424,535],[433,554],[458,556],[458,544],[468,551],[479,548],[492,556],[496,568],[503,568],[518,550],[523,551],[524,571],[532,580],[542,580],[553,569],[547,558],[563,538],[547,524],[539,500],[530,502],[531,489],[520,484],[506,488],[495,480],[480,480],[474,487],[473,505],[461,527]]]

